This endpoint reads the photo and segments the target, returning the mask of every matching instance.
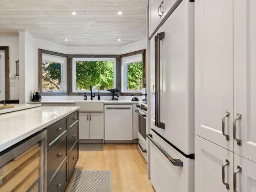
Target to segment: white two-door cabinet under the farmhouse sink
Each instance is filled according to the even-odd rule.
[[[79,139],[103,139],[103,113],[79,113]]]

